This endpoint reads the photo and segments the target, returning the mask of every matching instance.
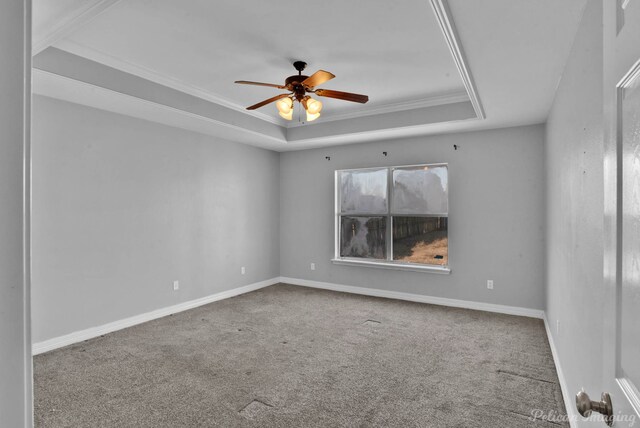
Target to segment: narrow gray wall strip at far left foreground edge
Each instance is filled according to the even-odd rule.
[[[31,425],[28,189],[31,2],[0,4],[0,426]]]

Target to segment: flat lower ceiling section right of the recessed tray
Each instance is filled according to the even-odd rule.
[[[546,121],[586,0],[449,0],[487,118]]]

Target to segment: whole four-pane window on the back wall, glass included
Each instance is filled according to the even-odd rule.
[[[336,171],[340,264],[449,272],[446,164]]]

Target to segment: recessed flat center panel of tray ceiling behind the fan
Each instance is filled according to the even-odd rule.
[[[293,4],[298,18],[295,12],[283,13]],[[308,74],[334,73],[337,77],[324,88],[369,95],[366,107],[464,91],[428,2],[293,4],[123,0],[56,46],[116,68],[133,65],[240,107],[282,91],[239,86],[235,80],[283,84],[297,74],[294,60],[308,62]],[[362,109],[323,101],[327,115]],[[260,111],[281,120],[274,105]]]

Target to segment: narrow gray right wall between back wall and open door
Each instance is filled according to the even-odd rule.
[[[572,393],[602,388],[602,36],[590,0],[546,132],[547,318]]]

